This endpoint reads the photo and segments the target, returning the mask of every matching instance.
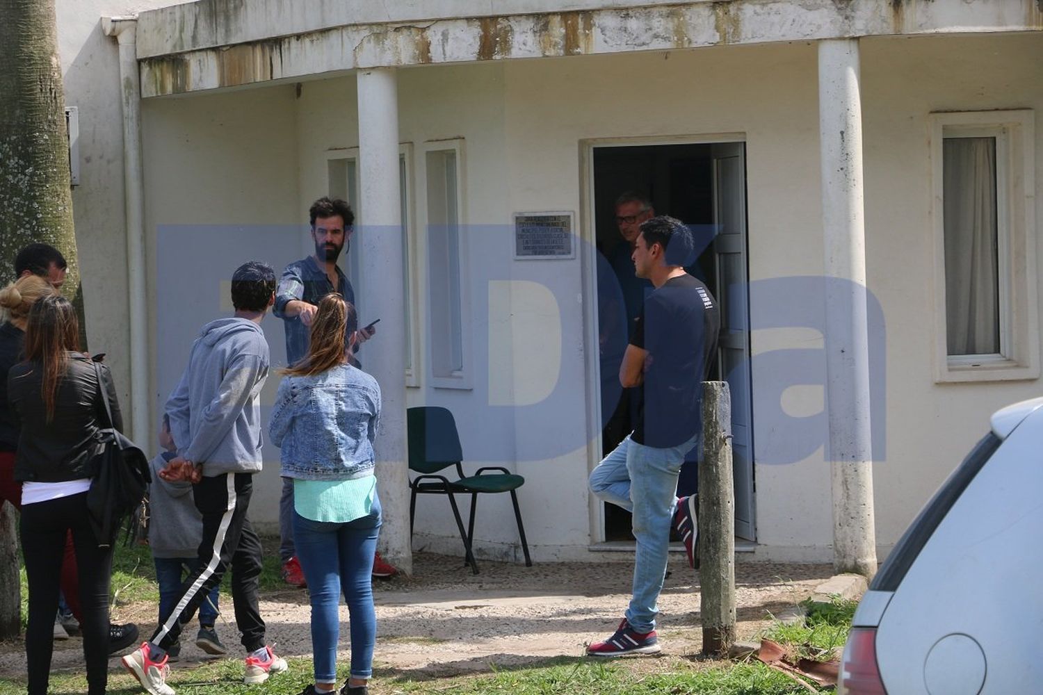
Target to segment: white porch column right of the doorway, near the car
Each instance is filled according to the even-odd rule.
[[[858,41],[819,43],[833,566],[876,572]]]

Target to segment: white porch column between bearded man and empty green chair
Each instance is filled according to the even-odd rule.
[[[413,571],[409,539],[406,457],[406,318],[403,307],[402,210],[398,191],[398,79],[393,69],[358,73],[359,183],[363,226],[356,232],[366,270],[361,296],[365,319],[381,319],[359,355],[381,386],[377,479],[384,507],[381,550],[392,565]]]

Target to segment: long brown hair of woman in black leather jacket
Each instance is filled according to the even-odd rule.
[[[43,369],[40,395],[47,421],[54,419],[54,398],[58,382],[69,366],[69,350],[79,351],[79,321],[68,299],[44,297],[29,309],[25,326],[25,359]]]

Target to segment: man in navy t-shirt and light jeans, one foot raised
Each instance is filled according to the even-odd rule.
[[[592,656],[656,653],[656,603],[666,573],[673,521],[695,567],[695,497],[677,499],[684,455],[699,443],[702,382],[717,351],[721,317],[703,282],[684,271],[692,231],[679,220],[644,222],[632,255],[652,281],[623,356],[620,382],[644,391],[633,432],[590,473],[590,492],[633,515],[633,595],[618,629],[587,647]]]

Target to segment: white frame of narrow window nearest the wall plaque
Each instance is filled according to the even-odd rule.
[[[435,354],[435,341],[443,339],[447,336],[447,331],[435,331],[434,326],[431,325],[432,316],[434,313],[434,307],[432,301],[434,299],[433,293],[431,292],[431,282],[434,278],[434,273],[432,272],[432,253],[431,253],[431,234],[428,231],[428,226],[430,224],[429,215],[430,207],[428,201],[428,155],[433,152],[448,152],[452,151],[456,156],[456,175],[457,175],[457,187],[456,187],[456,207],[457,207],[457,224],[459,225],[459,230],[457,234],[457,254],[458,254],[458,267],[459,267],[459,287],[460,287],[460,352],[462,368],[459,370],[453,370],[451,375],[439,374],[439,366],[436,364]],[[468,327],[474,325],[471,322],[471,302],[470,302],[470,265],[469,252],[468,252],[468,234],[467,234],[467,207],[466,207],[466,181],[467,181],[467,169],[464,156],[464,140],[462,138],[454,138],[447,140],[431,140],[422,143],[418,148],[417,153],[418,165],[416,170],[419,172],[416,180],[416,200],[417,200],[417,216],[422,219],[422,223],[419,226],[423,229],[425,238],[425,256],[427,272],[425,273],[428,282],[428,305],[425,315],[428,317],[429,325],[426,332],[427,337],[427,358],[428,358],[428,382],[432,388],[435,389],[459,389],[459,390],[472,390],[475,384],[475,365],[474,365],[474,350],[471,345],[471,331]]]

